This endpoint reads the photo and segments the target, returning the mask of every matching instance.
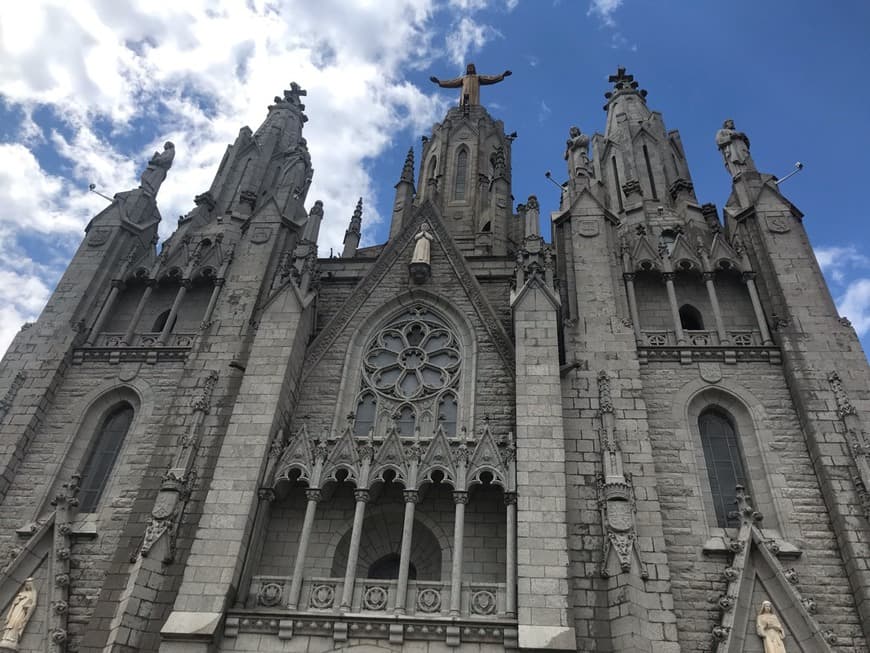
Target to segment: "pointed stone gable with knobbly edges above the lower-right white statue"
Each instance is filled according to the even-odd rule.
[[[773,604],[773,612],[784,626],[787,650],[800,653],[830,653],[829,636],[816,623],[807,606],[809,599],[797,590],[797,574],[783,569],[769,538],[759,528],[761,515],[749,504],[749,496],[737,488],[740,529],[731,541],[734,558],[725,570],[728,589],[719,599],[722,620],[713,629],[715,653],[742,653],[747,638],[755,635],[760,596]],[[751,640],[749,640],[751,641]]]

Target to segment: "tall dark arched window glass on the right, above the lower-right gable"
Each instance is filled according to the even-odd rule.
[[[698,417],[701,445],[710,492],[716,510],[716,521],[721,528],[736,526],[738,520],[730,514],[735,509],[735,488],[746,486],[746,472],[737,431],[731,419],[717,410],[705,410]]]

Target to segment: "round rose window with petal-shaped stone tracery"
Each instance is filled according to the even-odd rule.
[[[454,385],[459,346],[440,321],[421,309],[383,329],[364,357],[369,387],[400,400],[423,399]]]

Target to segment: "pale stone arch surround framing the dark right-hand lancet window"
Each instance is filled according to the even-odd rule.
[[[746,470],[748,491],[756,510],[764,515],[764,528],[779,530],[784,524],[781,516],[785,514],[779,501],[773,495],[768,475],[773,469],[767,448],[763,442],[773,438],[768,427],[768,416],[761,404],[742,386],[725,379],[715,385],[703,380],[687,383],[674,396],[673,418],[680,425],[685,441],[690,442],[694,454],[695,487],[700,492],[701,512],[704,515],[706,530],[709,534],[720,534],[722,529],[716,522],[707,464],[698,427],[698,418],[705,409],[718,409],[727,414],[734,423],[740,438],[743,461]]]

